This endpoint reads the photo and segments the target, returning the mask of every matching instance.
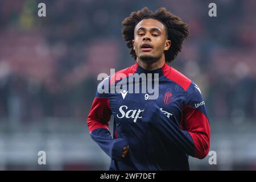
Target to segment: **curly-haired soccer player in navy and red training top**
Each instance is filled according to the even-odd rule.
[[[110,90],[124,79],[121,73],[127,78],[152,73],[158,74],[159,95],[149,100],[148,93],[97,91],[87,118],[90,136],[112,159],[110,170],[189,170],[189,155],[203,159],[209,152],[210,127],[199,87],[167,64],[181,51],[188,26],[165,8],[152,12],[147,7],[122,24],[135,63],[98,88]]]

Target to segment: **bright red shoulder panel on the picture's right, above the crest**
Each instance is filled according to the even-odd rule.
[[[169,80],[174,81],[177,85],[181,86],[185,91],[188,90],[189,86],[191,86],[192,81],[187,76],[183,75],[183,73],[177,71],[175,68],[170,65],[165,65],[163,68],[164,76],[166,76]]]

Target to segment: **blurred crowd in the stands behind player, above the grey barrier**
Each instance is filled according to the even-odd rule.
[[[210,118],[256,118],[256,1],[3,1],[0,6],[0,118],[30,122],[78,117],[92,104],[99,73],[134,64],[121,22],[144,6],[166,7],[191,36],[172,67],[199,85]],[[1,119],[2,120],[2,119]]]

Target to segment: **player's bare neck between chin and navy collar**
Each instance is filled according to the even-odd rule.
[[[156,61],[142,61],[137,57],[137,63],[139,64],[140,67],[143,69],[146,69],[148,71],[152,71],[158,68],[162,68],[163,65],[166,63],[166,60],[164,56],[162,56],[159,60]]]

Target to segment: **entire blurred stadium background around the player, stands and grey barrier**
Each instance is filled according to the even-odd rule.
[[[38,3],[47,16],[38,17]],[[208,16],[210,2],[217,17]],[[86,116],[98,73],[134,63],[121,22],[147,6],[166,7],[190,25],[172,63],[199,85],[217,165],[256,169],[256,1],[0,1],[0,169],[100,170],[110,159],[89,137]],[[38,151],[46,151],[46,165]]]

